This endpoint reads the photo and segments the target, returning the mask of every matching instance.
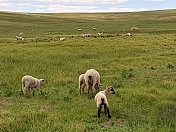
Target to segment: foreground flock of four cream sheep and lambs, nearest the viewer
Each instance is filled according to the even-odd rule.
[[[32,76],[26,75],[22,78],[23,94],[26,95],[27,90],[31,89],[31,92],[34,96],[34,88],[36,88],[38,95],[40,95],[40,86],[43,86],[44,84],[44,79],[37,79]],[[87,70],[85,74],[81,74],[79,76],[80,95],[81,91],[82,93],[84,93],[85,86],[88,89],[88,94],[90,91],[92,92],[92,97],[94,96],[94,89],[96,90],[97,94],[95,95],[95,101],[97,104],[98,118],[100,118],[102,105],[104,105],[105,115],[108,113],[108,118],[111,118],[107,96],[109,94],[115,94],[114,89],[111,86],[106,86],[106,89],[104,91],[100,91],[100,87],[102,86],[102,84],[100,83],[100,74],[94,69]]]

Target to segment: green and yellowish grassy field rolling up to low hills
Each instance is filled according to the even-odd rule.
[[[0,131],[176,131],[175,23],[176,10],[0,12]],[[104,35],[83,39],[77,28]],[[133,36],[119,36],[127,32]],[[24,41],[15,39],[19,33]],[[111,119],[103,112],[98,119],[94,99],[79,95],[78,77],[91,68],[101,75],[101,90],[116,91],[108,97]],[[45,79],[41,96],[22,95],[24,75]]]

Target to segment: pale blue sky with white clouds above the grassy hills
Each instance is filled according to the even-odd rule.
[[[0,11],[28,13],[136,12],[176,9],[176,0],[0,0]]]

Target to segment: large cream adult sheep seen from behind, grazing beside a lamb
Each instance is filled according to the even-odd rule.
[[[88,89],[88,94],[89,91],[91,90],[92,92],[92,97],[94,95],[94,88],[96,89],[96,92],[99,92],[100,89],[100,74],[94,70],[94,69],[90,69],[87,70],[85,75],[84,75],[84,80]]]

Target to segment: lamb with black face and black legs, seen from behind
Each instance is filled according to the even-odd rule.
[[[97,111],[98,111],[98,118],[100,118],[101,113],[101,107],[104,105],[104,111],[105,115],[108,112],[108,118],[111,118],[110,112],[109,112],[109,104],[107,100],[108,94],[115,94],[115,91],[112,87],[106,86],[106,89],[104,91],[100,91],[95,95],[95,102],[97,104]]]

